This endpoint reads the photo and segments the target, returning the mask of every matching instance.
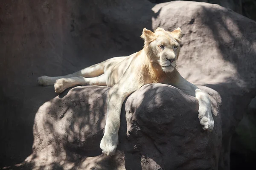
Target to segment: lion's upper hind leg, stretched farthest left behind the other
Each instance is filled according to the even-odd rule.
[[[68,74],[65,76],[58,76],[58,77],[48,77],[48,76],[42,76],[38,77],[38,84],[47,86],[47,85],[54,85],[56,80],[61,78],[71,78],[71,77],[97,77],[104,73],[105,66],[106,65],[115,65],[118,62],[121,62],[125,57],[113,57],[111,59],[107,59],[104,62],[101,62],[99,64],[92,65],[90,67],[84,68],[80,71],[77,71],[73,74]]]

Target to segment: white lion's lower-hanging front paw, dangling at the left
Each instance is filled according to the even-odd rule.
[[[107,134],[105,133],[99,147],[102,149],[102,153],[107,156],[115,154],[116,146],[118,144],[118,134]]]

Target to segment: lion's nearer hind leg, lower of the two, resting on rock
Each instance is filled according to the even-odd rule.
[[[85,78],[85,77],[71,77],[57,79],[54,84],[56,93],[62,93],[64,90],[76,85],[102,85],[106,86],[106,75],[102,74],[99,77]]]

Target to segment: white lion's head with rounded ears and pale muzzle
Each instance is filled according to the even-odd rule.
[[[172,32],[157,28],[154,32],[144,28],[141,37],[145,40],[145,51],[154,65],[164,72],[172,72],[180,53],[180,28]]]

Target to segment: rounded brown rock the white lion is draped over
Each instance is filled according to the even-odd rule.
[[[109,88],[76,87],[44,103],[35,115],[33,169],[218,169],[221,151],[220,97],[211,95],[215,127],[202,129],[198,100],[170,85],[145,85],[122,108],[116,155],[104,156]]]

